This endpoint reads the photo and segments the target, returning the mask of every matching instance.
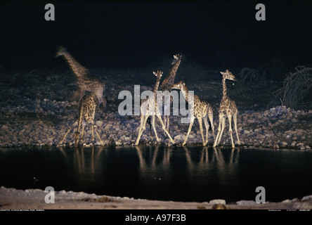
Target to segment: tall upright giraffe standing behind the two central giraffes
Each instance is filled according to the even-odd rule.
[[[164,124],[166,126],[167,131],[169,131],[169,124],[170,124],[170,107],[171,107],[171,96],[170,96],[170,92],[171,92],[171,86],[174,85],[174,79],[176,78],[176,71],[178,71],[178,66],[181,63],[181,58],[182,56],[180,54],[176,54],[174,55],[174,60],[172,60],[171,65],[172,68],[169,72],[169,76],[163,80],[162,84],[160,84],[160,91],[165,91],[163,93],[164,99],[169,98],[169,105],[167,103],[165,103],[163,101],[163,105],[164,105]],[[169,108],[168,108],[169,107]],[[167,112],[169,111],[169,112]],[[169,113],[169,115],[167,115],[167,113]]]

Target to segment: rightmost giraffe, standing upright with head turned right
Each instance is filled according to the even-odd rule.
[[[233,81],[237,81],[232,72],[226,70],[225,72],[221,72],[222,75],[222,84],[223,84],[223,96],[220,103],[219,108],[219,128],[218,134],[216,135],[216,139],[214,140],[214,147],[219,145],[221,141],[221,136],[223,134],[223,130],[226,124],[226,117],[228,117],[228,123],[230,124],[230,139],[232,141],[232,148],[235,148],[233,141],[233,130],[232,130],[232,117],[234,120],[234,127],[236,131],[236,135],[238,136],[238,107],[235,104],[235,101],[230,100],[226,95],[226,79],[230,79]],[[221,128],[222,124],[222,128]],[[240,138],[238,137],[238,145],[240,145]]]

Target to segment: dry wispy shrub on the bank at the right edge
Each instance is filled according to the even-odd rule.
[[[290,72],[283,86],[274,93],[275,102],[280,100],[287,108],[295,108],[303,103],[304,97],[312,87],[312,68],[298,66],[296,72]]]

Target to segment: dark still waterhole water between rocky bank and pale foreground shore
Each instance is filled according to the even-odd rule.
[[[312,151],[202,147],[0,149],[0,186],[227,203],[312,194]],[[34,177],[36,180],[34,180]]]

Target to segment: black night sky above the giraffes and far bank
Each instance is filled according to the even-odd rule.
[[[52,3],[56,20],[44,20]],[[16,1],[0,3],[0,65],[51,67],[57,46],[87,67],[142,67],[182,53],[209,68],[244,68],[280,58],[311,64],[312,2]]]

